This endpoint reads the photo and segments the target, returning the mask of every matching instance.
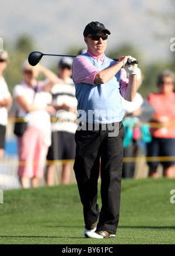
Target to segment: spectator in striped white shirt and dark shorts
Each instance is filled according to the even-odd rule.
[[[75,158],[75,120],[77,101],[75,98],[75,85],[71,78],[72,58],[63,57],[58,64],[58,83],[51,89],[54,108],[58,110],[60,120],[52,124],[52,143],[48,149],[47,160],[72,160]],[[47,185],[54,185],[55,164],[47,165]],[[62,164],[61,184],[68,184],[71,177],[71,164]]]

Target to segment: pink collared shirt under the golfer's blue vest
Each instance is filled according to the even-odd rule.
[[[105,54],[102,58],[98,58],[96,56],[93,56],[90,51],[87,51],[87,53],[91,57],[95,58],[99,65],[103,64],[104,58],[106,57]],[[86,57],[77,56],[75,58],[74,68],[72,70],[72,77],[74,78],[75,82],[84,82],[86,84],[95,85],[95,76],[96,74],[98,74],[98,72],[100,72],[100,70],[92,65]],[[125,96],[127,85],[127,72],[124,70],[124,68],[121,68],[120,92],[123,98]]]

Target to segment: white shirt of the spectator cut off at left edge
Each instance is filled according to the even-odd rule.
[[[8,85],[6,84],[6,81],[3,77],[0,78],[0,101],[3,101],[3,99],[10,98],[10,92],[8,89]],[[8,123],[8,109],[6,109],[4,106],[0,106],[0,124],[3,126],[6,126]]]

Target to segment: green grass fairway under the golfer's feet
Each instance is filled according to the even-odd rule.
[[[174,179],[123,179],[114,239],[83,238],[76,184],[3,191],[0,244],[174,244],[172,189]]]

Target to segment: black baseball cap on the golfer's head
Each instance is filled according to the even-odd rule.
[[[111,32],[106,29],[106,27],[100,23],[100,22],[90,22],[88,25],[86,25],[85,30],[83,32],[83,36],[86,37],[88,34],[97,34],[101,31],[104,31],[106,34],[111,34]]]

